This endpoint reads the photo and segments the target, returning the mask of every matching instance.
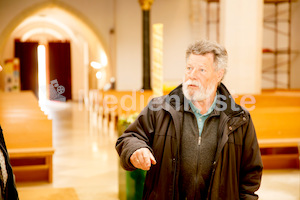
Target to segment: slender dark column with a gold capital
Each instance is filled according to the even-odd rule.
[[[143,88],[151,90],[150,9],[153,0],[139,0],[143,12]]]

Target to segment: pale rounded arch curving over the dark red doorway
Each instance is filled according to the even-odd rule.
[[[70,40],[71,43],[73,43],[73,45],[71,44],[71,53],[73,54],[75,52],[73,51],[74,48],[77,49],[75,49],[77,53],[75,52],[74,56],[72,56],[72,59],[75,58],[78,60],[78,55],[82,56],[83,54],[83,59],[80,60],[80,63],[78,63],[77,60],[71,61],[72,87],[75,86],[77,87],[77,89],[84,89],[87,92],[91,83],[91,80],[89,79],[89,62],[92,60],[105,64],[108,63],[108,67],[106,67],[105,72],[107,73],[107,77],[109,78],[110,59],[109,56],[107,56],[107,50],[105,46],[103,46],[103,41],[101,40],[101,36],[99,35],[99,33],[95,31],[96,29],[94,29],[94,27],[91,26],[88,21],[84,21],[84,16],[74,12],[74,9],[72,8],[70,9],[65,6],[53,4],[49,6],[49,4],[47,3],[45,3],[44,6],[36,6],[24,12],[26,13],[26,15],[24,15],[22,19],[16,18],[15,20],[12,20],[11,24],[5,29],[6,33],[4,34],[4,37],[0,38],[0,51],[9,49],[7,48],[7,45],[13,44],[14,38],[12,36],[16,33],[15,31],[21,31],[19,32],[20,35],[18,35],[18,37],[26,39],[30,37],[29,35],[34,35],[34,32],[37,33],[41,31],[40,28],[43,27],[44,30],[48,29],[47,32],[49,35],[58,38],[61,38],[59,36],[61,35],[62,37],[64,37],[63,39]],[[15,28],[12,29],[12,27]],[[7,33],[9,32],[10,36],[7,36]],[[3,44],[4,46],[2,46]],[[88,46],[88,48],[86,48],[86,46]],[[3,54],[1,55],[3,56]],[[9,57],[4,55],[0,59],[2,60],[3,58]],[[81,68],[80,70],[82,70],[84,68],[84,71],[76,72],[77,74],[74,73],[74,71],[76,70],[73,70],[73,64],[76,65],[75,68],[77,69]],[[94,78],[92,80],[95,83],[94,87],[104,85],[104,83],[106,82],[106,80],[102,79],[101,82],[104,83],[99,84],[99,82],[97,82],[96,76],[92,76],[92,78]],[[84,88],[80,86],[80,84],[82,85],[81,82],[83,81],[83,79],[85,82]],[[73,89],[72,95],[73,97],[77,97],[77,94],[74,94]]]

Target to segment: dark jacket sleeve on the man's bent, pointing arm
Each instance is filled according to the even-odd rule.
[[[120,156],[121,166],[125,170],[132,171],[136,169],[130,162],[130,156],[137,149],[148,148],[153,152],[150,144],[154,133],[154,121],[154,112],[148,105],[118,138],[116,150]]]

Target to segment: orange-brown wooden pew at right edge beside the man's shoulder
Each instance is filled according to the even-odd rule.
[[[254,98],[255,108],[250,113],[264,169],[299,169],[300,91],[263,91]]]

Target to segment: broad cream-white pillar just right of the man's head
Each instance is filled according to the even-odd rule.
[[[263,0],[220,1],[220,25],[220,42],[228,51],[225,84],[234,93],[260,93]]]

